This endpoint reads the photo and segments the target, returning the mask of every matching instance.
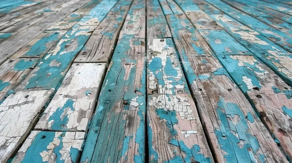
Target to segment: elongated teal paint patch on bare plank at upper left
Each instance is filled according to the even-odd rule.
[[[43,37],[38,40],[34,45],[32,45],[28,52],[24,55],[28,56],[39,56],[46,53],[50,47],[47,47],[47,44],[50,42],[56,42],[59,40],[59,32],[55,32],[49,36]]]

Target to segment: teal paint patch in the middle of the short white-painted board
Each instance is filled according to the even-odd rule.
[[[64,106],[57,108],[57,110],[48,119],[48,121],[53,120],[53,123],[51,126],[52,130],[67,130],[67,128],[64,128],[69,121],[67,111],[68,110],[74,111],[75,109],[73,105],[74,105],[74,101],[72,101],[71,99],[68,99],[66,103],[64,104]],[[65,113],[65,116],[62,117],[64,113]]]

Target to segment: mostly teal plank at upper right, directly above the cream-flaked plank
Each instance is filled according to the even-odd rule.
[[[275,28],[271,28],[267,24],[259,21],[258,19],[253,18],[252,16],[245,14],[239,10],[236,10],[229,6],[228,4],[220,0],[206,0],[211,3],[213,6],[217,7],[219,10],[222,10],[226,15],[233,17],[235,20],[241,22],[245,26],[257,31],[261,35],[269,38],[276,44],[281,47],[284,47],[288,51],[292,52],[292,33],[291,28],[281,27],[283,31],[279,31]],[[251,11],[253,12],[253,11]],[[271,24],[269,24],[271,25]],[[279,25],[279,24],[278,24]],[[275,25],[273,25],[275,27]]]

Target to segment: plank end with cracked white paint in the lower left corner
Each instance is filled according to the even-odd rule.
[[[6,162],[18,150],[52,92],[19,91],[0,105],[0,162]]]

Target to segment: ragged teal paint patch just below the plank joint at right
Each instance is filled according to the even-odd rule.
[[[234,60],[229,55],[225,55],[224,57],[218,56],[218,59],[224,65],[230,76],[234,79],[235,83],[239,85],[239,88],[246,93],[250,89],[248,89],[248,86],[243,81],[244,76],[251,79],[251,83],[254,87],[262,88],[260,85],[260,81],[258,80],[258,75],[255,72],[258,73],[266,73],[265,70],[260,70],[257,65],[260,62],[253,62],[253,65],[250,65],[246,62],[243,62],[243,66],[239,66],[239,60]]]

